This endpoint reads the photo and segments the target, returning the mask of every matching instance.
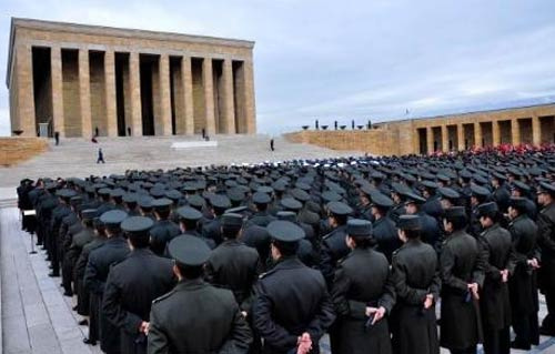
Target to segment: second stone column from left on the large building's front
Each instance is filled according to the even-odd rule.
[[[52,132],[59,132],[60,136],[64,136],[62,50],[60,47],[50,49],[50,64],[52,78]]]

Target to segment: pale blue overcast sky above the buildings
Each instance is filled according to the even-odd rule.
[[[254,40],[261,133],[555,101],[553,0],[0,0],[3,70],[11,17]]]

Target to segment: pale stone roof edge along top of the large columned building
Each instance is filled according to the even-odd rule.
[[[242,47],[248,49],[254,48],[254,41],[230,39],[230,38],[183,34],[175,32],[159,32],[159,31],[125,29],[125,28],[115,28],[107,26],[80,24],[71,22],[44,21],[37,19],[11,18],[8,68],[6,72],[6,84],[8,85],[8,88],[10,87],[12,51],[16,40],[16,30],[18,28],[30,28],[39,30],[73,32],[73,33],[84,33],[84,34],[103,34],[103,36],[123,37],[123,38],[140,38],[140,39],[206,43],[216,45]]]

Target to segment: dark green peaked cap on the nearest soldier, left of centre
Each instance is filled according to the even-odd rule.
[[[170,241],[168,252],[178,264],[201,266],[209,260],[211,251],[202,239],[180,235]]]

